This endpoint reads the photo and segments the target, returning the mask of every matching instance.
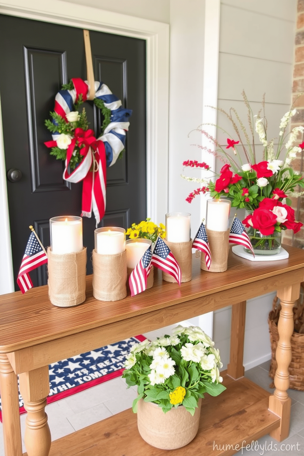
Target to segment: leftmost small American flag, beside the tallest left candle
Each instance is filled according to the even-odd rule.
[[[26,244],[26,251],[17,277],[17,284],[22,294],[33,286],[31,277],[28,273],[45,263],[47,263],[46,252],[36,238],[35,232],[32,231]]]

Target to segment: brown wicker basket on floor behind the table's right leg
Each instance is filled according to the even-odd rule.
[[[301,286],[303,287],[302,282]],[[278,345],[278,317],[281,306],[278,298],[273,300],[273,309],[269,313],[268,324],[271,343],[271,363],[269,377],[274,378],[278,367],[275,352]],[[294,306],[294,332],[291,336],[291,363],[289,365],[289,388],[304,391],[304,302],[299,299]],[[274,388],[271,383],[270,388]]]

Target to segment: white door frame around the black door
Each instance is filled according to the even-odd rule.
[[[168,212],[169,24],[62,0],[27,0],[26,5],[24,0],[0,0],[0,13],[146,41],[147,216],[155,223],[161,222]],[[14,277],[1,119],[0,116],[0,294],[3,294],[14,290]]]

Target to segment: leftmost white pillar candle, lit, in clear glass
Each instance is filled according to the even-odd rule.
[[[81,217],[53,217],[50,219],[50,228],[53,254],[72,254],[82,251]]]

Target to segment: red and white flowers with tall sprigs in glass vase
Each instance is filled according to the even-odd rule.
[[[304,180],[303,176],[300,176],[290,167],[290,162],[304,150],[304,127],[298,126],[290,133],[286,133],[289,120],[296,113],[296,109],[291,109],[284,114],[279,125],[278,145],[275,150],[274,139],[269,141],[267,138],[264,97],[262,101],[263,117],[261,117],[262,109],[257,115],[253,115],[244,91],[242,96],[247,107],[251,137],[249,137],[237,111],[233,108],[230,109],[229,113],[219,109],[232,122],[237,136],[237,140],[227,138],[226,148],[219,145],[217,140],[206,131],[198,129],[215,145],[215,150],[204,146],[199,147],[215,155],[224,162],[224,165],[219,175],[214,173],[214,176],[217,176],[215,181],[181,175],[188,181],[196,181],[202,184],[201,187],[190,193],[186,201],[191,202],[196,195],[207,192],[210,193],[211,197],[227,197],[232,201],[232,207],[245,208],[252,213],[243,221],[247,227],[251,226],[258,229],[263,235],[273,234],[274,231],[280,232],[282,229],[292,229],[296,233],[301,228],[302,223],[295,221],[294,209],[290,207],[291,200],[289,197],[304,194],[304,192],[295,192],[297,186],[304,187]],[[214,126],[220,128],[217,125]],[[253,126],[263,145],[263,160],[258,162]],[[221,130],[227,133],[226,130]],[[303,142],[294,146],[299,135],[302,135]],[[238,150],[238,147],[242,152]],[[241,153],[245,157],[245,163],[242,163]],[[184,161],[183,166],[200,167],[210,171],[210,167],[204,162],[198,163],[188,160]],[[285,203],[283,203],[284,198],[286,198]]]

